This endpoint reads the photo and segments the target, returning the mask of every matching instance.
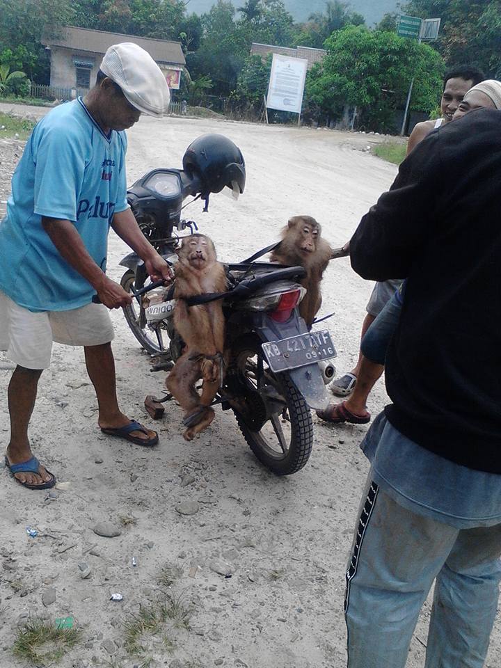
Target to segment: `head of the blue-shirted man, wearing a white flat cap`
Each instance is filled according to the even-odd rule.
[[[104,54],[96,85],[84,102],[108,132],[131,127],[141,113],[163,116],[170,93],[164,74],[150,54],[132,42],[123,42]]]

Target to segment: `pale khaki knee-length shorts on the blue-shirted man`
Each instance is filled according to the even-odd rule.
[[[113,325],[102,304],[34,313],[0,291],[0,350],[20,367],[47,369],[53,341],[67,346],[100,346],[111,340]]]

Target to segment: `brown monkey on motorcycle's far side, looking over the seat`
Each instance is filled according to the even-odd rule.
[[[299,281],[307,292],[299,304],[299,315],[310,327],[321,307],[320,282],[333,258],[333,249],[321,237],[321,226],[311,216],[293,216],[282,230],[280,246],[272,251],[271,262],[288,267],[299,265],[306,276]]]

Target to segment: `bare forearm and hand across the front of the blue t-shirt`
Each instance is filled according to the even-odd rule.
[[[118,283],[108,278],[90,257],[73,223],[42,216],[42,226],[61,256],[88,280],[105,306],[121,308],[132,303],[132,297]]]

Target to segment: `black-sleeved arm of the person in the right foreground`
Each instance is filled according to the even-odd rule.
[[[356,273],[369,280],[408,276],[436,224],[446,177],[434,133],[404,160],[390,191],[360,221],[349,242]]]

